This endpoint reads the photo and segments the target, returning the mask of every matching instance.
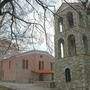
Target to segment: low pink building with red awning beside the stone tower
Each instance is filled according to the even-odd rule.
[[[54,78],[54,57],[44,51],[29,51],[0,60],[0,80],[31,82]]]

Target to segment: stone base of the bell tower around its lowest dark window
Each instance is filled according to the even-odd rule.
[[[56,61],[56,85],[61,90],[65,88],[76,88],[76,87],[87,87],[87,81],[90,79],[90,63],[83,59],[85,56],[74,56],[63,59],[58,59]],[[86,65],[84,64],[86,62]],[[88,65],[88,66],[87,66]],[[71,70],[71,81],[66,82],[65,80],[65,69],[69,68]],[[87,74],[86,74],[87,72]],[[89,83],[88,83],[89,84]],[[90,84],[89,84],[90,85]],[[70,89],[68,89],[70,90]],[[77,90],[77,89],[76,89]]]

